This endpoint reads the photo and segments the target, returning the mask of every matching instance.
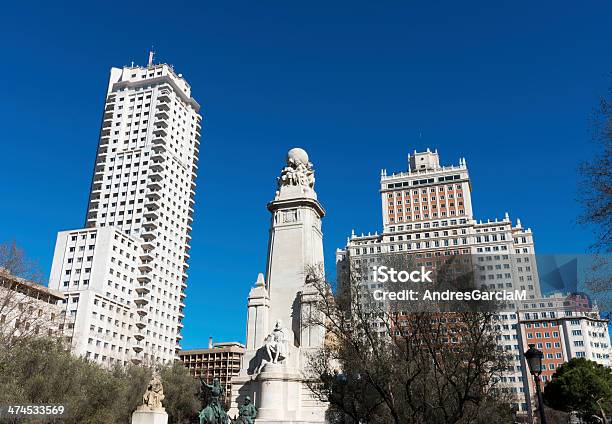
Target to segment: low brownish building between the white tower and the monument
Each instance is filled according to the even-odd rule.
[[[215,378],[225,388],[226,399],[231,398],[232,377],[240,372],[245,347],[242,343],[214,343],[212,338],[207,349],[189,349],[179,352],[179,359],[195,378],[212,384]]]

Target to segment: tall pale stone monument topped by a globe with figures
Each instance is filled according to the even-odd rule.
[[[294,148],[277,179],[266,277],[259,274],[247,302],[246,352],[232,380],[230,415],[247,398],[257,407],[256,424],[324,423],[327,405],[305,385],[309,352],[323,345],[322,327],[305,325],[316,291],[306,281],[309,266],[323,266],[321,218],[308,154]]]

